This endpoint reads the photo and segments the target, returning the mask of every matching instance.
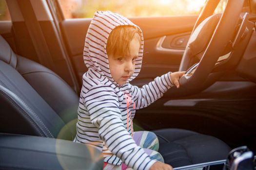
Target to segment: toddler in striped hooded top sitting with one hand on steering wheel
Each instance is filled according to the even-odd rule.
[[[141,88],[131,85],[139,73],[143,54],[140,28],[110,11],[93,17],[84,46],[77,136],[102,151],[104,170],[172,170],[158,153],[158,138],[152,132],[133,131],[136,109],[159,99],[184,72],[168,72]]]

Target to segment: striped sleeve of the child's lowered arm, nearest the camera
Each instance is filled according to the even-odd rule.
[[[151,160],[125,129],[121,120],[118,95],[112,87],[96,86],[85,95],[85,107],[91,122],[108,149],[134,170],[148,170],[156,160]]]

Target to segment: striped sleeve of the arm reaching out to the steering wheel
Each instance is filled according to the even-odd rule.
[[[136,109],[147,107],[163,96],[163,94],[174,84],[172,83],[171,72],[168,72],[160,77],[156,77],[154,81],[148,85],[143,85],[141,88],[132,86],[132,97],[136,104]]]

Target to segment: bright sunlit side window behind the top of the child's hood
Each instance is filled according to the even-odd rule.
[[[65,18],[90,18],[95,11],[125,17],[198,15],[205,0],[59,0]]]

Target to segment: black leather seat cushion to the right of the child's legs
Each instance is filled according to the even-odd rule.
[[[154,132],[159,140],[159,153],[173,167],[223,160],[230,151],[229,146],[213,136],[174,128]]]

